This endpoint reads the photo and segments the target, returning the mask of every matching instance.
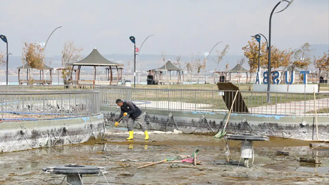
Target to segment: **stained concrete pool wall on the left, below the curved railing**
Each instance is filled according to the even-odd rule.
[[[0,153],[83,143],[105,133],[104,115],[0,124]]]

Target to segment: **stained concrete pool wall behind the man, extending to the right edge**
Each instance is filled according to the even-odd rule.
[[[223,129],[228,113],[200,111],[170,111],[141,108],[146,114],[144,120],[149,129],[173,130],[179,129],[184,133],[214,135]],[[101,106],[101,112],[111,124],[118,119],[120,112],[114,106]],[[169,117],[171,113],[172,118]],[[146,115],[146,116],[145,116]],[[204,119],[203,119],[204,118]],[[113,122],[114,125],[114,122]],[[329,118],[318,117],[318,139],[328,140]],[[119,126],[126,127],[121,121]],[[138,124],[135,127],[139,128]],[[301,140],[316,140],[315,118],[310,116],[279,116],[231,114],[226,130],[231,133],[250,133]]]

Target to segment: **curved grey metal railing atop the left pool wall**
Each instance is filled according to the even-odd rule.
[[[0,121],[97,115],[99,95],[98,91],[0,90]]]

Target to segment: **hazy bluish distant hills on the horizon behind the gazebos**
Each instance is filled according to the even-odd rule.
[[[318,58],[319,56],[323,55],[323,52],[328,52],[329,45],[328,44],[311,44],[312,49],[312,60],[313,56],[316,56]],[[84,56],[86,57],[86,56]],[[125,66],[128,65],[128,61],[130,61],[130,65],[134,65],[134,58],[133,55],[126,55],[126,54],[110,54],[110,55],[104,55],[105,58],[110,59],[111,61],[117,62],[117,63],[123,63]],[[223,57],[223,60],[219,63],[217,66],[215,59],[216,56],[208,56],[208,71],[216,70],[219,71],[221,69],[225,70],[226,62],[229,63],[229,68],[233,68],[237,61],[242,58],[242,55],[227,55]],[[156,69],[158,67],[161,67],[164,65],[164,62],[162,60],[161,55],[144,55],[141,54],[138,56],[139,58],[139,69],[142,70],[148,70],[148,69]],[[166,55],[166,60],[170,59],[172,62],[176,62],[177,55]],[[199,55],[195,57],[196,59],[200,59],[203,61],[204,56]],[[49,61],[52,60],[51,66],[53,68],[59,68],[62,65],[61,62],[61,56],[53,56],[53,57],[46,57],[46,65],[49,65]],[[180,62],[181,62],[181,68],[186,67],[186,63],[190,61],[190,56],[181,56]],[[16,69],[17,67],[22,65],[21,57],[9,57],[9,68],[10,69]],[[244,63],[242,65],[244,68],[249,69],[248,63]],[[314,68],[313,65],[310,66],[311,68]],[[91,68],[90,68],[91,69]]]

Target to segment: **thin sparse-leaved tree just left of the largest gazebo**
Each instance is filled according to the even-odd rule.
[[[64,67],[64,70],[62,70],[62,78],[64,81],[64,84],[69,84],[70,78],[70,71],[72,70],[72,67],[67,65],[67,63],[77,62],[79,59],[81,59],[80,52],[83,49],[76,48],[74,46],[73,41],[66,41],[64,43],[64,48],[62,51],[62,66]]]

